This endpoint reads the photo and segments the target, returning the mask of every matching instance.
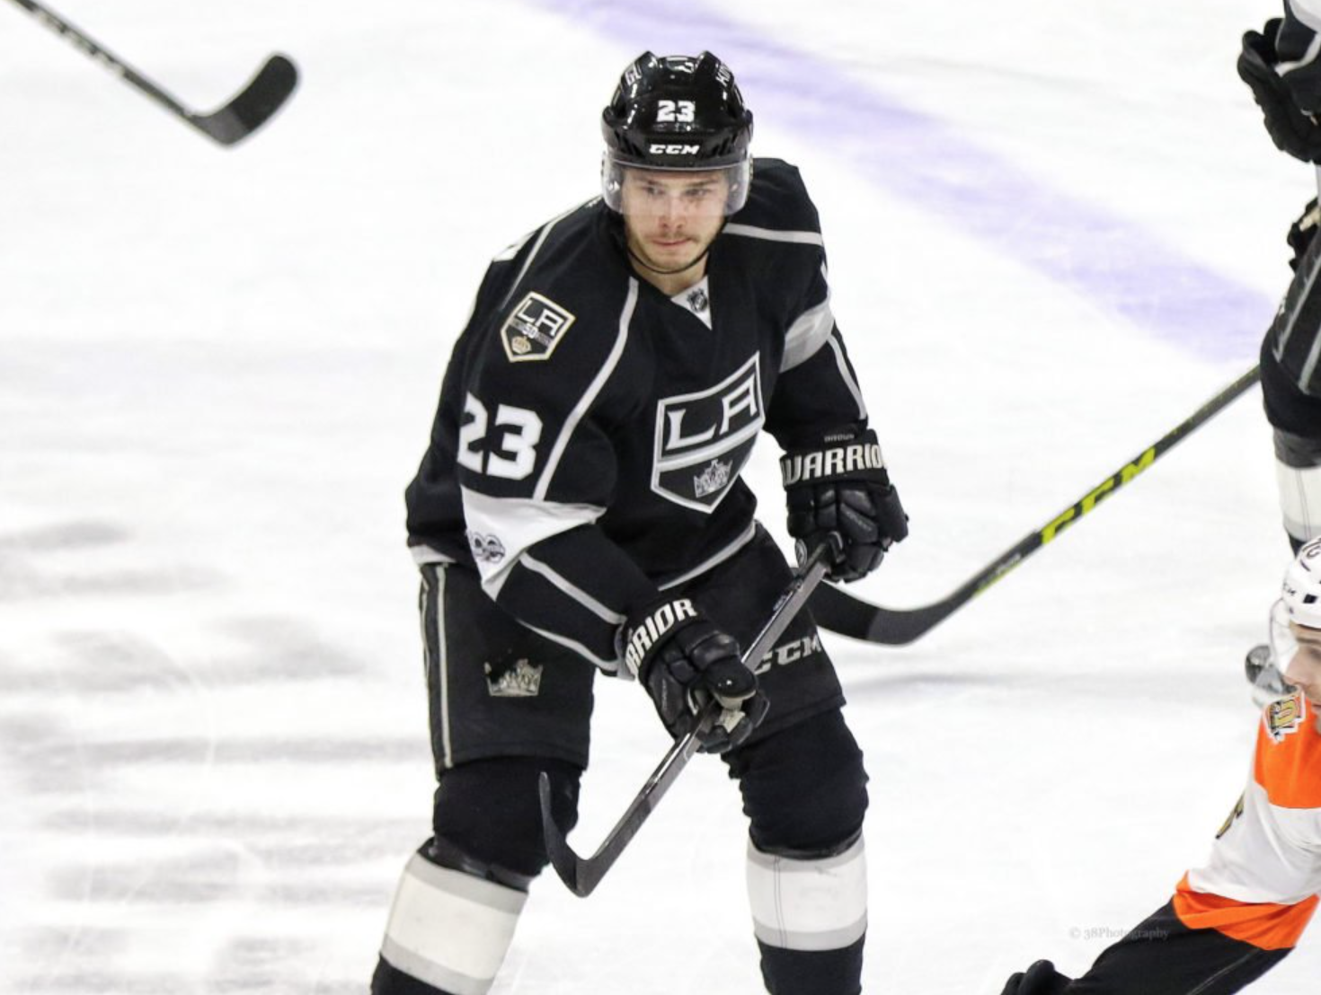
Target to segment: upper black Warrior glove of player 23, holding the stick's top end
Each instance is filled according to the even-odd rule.
[[[908,536],[908,515],[871,429],[856,438],[828,438],[820,449],[787,453],[779,470],[799,562],[831,534],[838,537],[830,579],[865,577],[881,565],[890,544]]]

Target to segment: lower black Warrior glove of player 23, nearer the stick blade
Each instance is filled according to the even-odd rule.
[[[724,711],[697,739],[723,754],[742,743],[766,717],[769,702],[757,676],[738,658],[738,643],[703,616],[688,598],[650,604],[621,631],[624,661],[647,689],[657,714],[675,739],[697,723],[715,698]]]

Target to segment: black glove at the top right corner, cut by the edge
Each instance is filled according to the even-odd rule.
[[[1276,148],[1304,162],[1321,164],[1321,124],[1313,117],[1321,111],[1321,65],[1297,61],[1306,53],[1310,36],[1301,24],[1285,26],[1279,17],[1269,20],[1262,32],[1243,36],[1238,71],[1252,88]]]

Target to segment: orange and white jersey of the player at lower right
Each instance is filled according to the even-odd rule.
[[[1173,908],[1263,950],[1292,947],[1321,893],[1321,731],[1303,694],[1262,713],[1247,790],[1207,863],[1184,875]]]

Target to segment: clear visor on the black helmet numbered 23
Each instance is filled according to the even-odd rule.
[[[748,203],[750,185],[752,161],[746,158],[728,166],[650,169],[608,152],[601,162],[601,195],[620,214],[721,218]]]

